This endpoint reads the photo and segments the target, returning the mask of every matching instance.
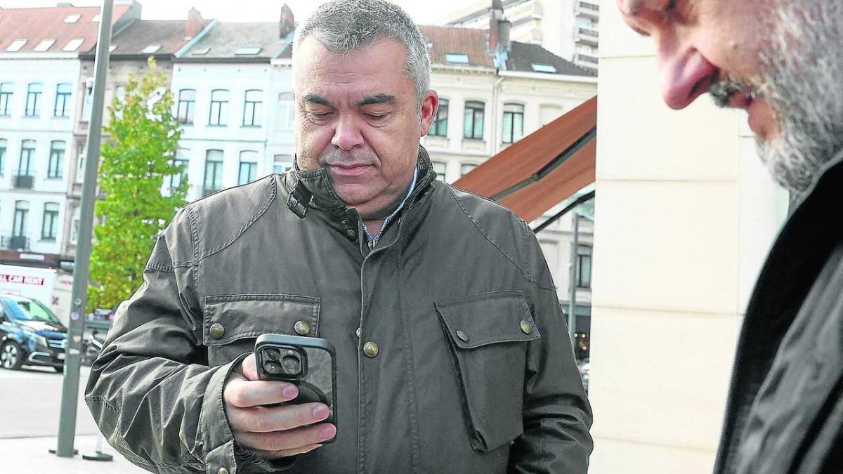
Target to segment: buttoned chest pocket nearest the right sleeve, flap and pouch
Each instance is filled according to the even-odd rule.
[[[454,359],[470,423],[471,447],[491,451],[524,432],[527,344],[540,337],[519,292],[435,304]]]

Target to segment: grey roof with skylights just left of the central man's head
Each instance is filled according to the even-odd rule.
[[[266,23],[217,23],[201,40],[191,46],[181,60],[204,61],[213,59],[255,61],[279,57],[287,46],[286,38],[279,38],[281,24]],[[254,47],[255,54],[237,54],[241,48]],[[260,48],[259,50],[257,48]],[[207,50],[207,51],[206,51]],[[255,51],[253,50],[253,51]],[[240,51],[245,52],[245,51]]]

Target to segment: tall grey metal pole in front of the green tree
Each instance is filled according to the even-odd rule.
[[[72,457],[73,439],[76,435],[76,406],[79,396],[79,362],[81,359],[82,332],[88,292],[88,269],[91,257],[91,235],[94,228],[94,201],[97,189],[99,143],[103,127],[105,104],[105,74],[108,73],[109,46],[111,43],[111,10],[114,0],[103,0],[99,19],[99,39],[94,59],[94,104],[88,128],[88,154],[85,156],[85,180],[82,186],[82,207],[79,216],[79,237],[76,261],[73,265],[73,293],[70,324],[67,327],[67,359],[64,363],[62,385],[62,412],[58,424],[56,455]]]

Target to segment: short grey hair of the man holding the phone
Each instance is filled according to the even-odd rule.
[[[332,0],[316,8],[296,28],[293,55],[308,36],[328,51],[359,51],[379,40],[398,40],[405,46],[404,70],[416,84],[416,107],[430,89],[430,55],[418,26],[398,5],[384,0]]]

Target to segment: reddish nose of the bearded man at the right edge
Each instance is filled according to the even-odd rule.
[[[684,109],[690,105],[705,94],[717,78],[717,67],[694,48],[659,51],[658,62],[662,97],[671,109]]]

